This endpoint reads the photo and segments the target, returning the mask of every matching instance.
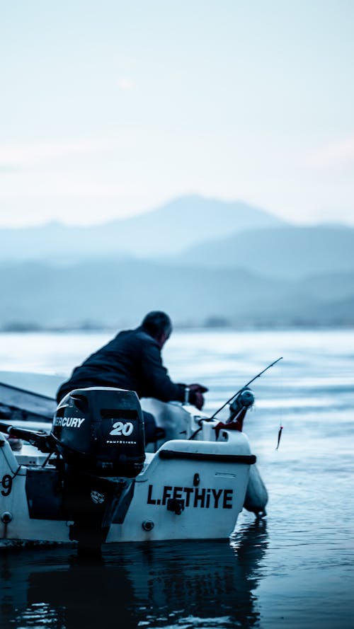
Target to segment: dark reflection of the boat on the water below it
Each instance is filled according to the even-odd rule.
[[[265,521],[227,541],[7,550],[1,628],[254,627]]]

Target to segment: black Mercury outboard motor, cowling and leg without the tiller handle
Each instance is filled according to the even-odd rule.
[[[99,548],[122,524],[144,465],[144,420],[134,391],[75,389],[59,403],[50,434],[61,454],[69,538]],[[118,477],[118,478],[117,478]]]

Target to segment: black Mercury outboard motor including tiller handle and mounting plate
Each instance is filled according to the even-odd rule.
[[[50,434],[0,423],[10,437],[47,453],[28,468],[30,518],[68,521],[69,539],[97,550],[111,524],[122,524],[144,466],[144,419],[134,391],[75,389],[59,403]],[[56,458],[51,458],[56,454]]]

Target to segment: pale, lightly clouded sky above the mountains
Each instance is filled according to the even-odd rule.
[[[354,0],[2,0],[0,225],[173,197],[354,224]]]

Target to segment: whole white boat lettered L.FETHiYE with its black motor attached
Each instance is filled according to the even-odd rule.
[[[132,391],[74,391],[51,423],[52,398],[3,386],[0,416],[12,427],[1,421],[0,538],[81,546],[228,538],[244,506],[263,515],[268,499],[237,425],[251,405],[242,395],[229,423],[190,405],[142,400],[164,429],[145,452]],[[16,438],[25,440],[18,451]]]

